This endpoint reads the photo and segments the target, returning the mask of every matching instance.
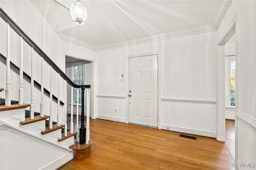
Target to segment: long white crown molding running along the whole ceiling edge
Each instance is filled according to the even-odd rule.
[[[218,30],[218,27],[220,26],[220,23],[222,22],[231,2],[232,2],[232,0],[222,0],[212,25],[200,26],[200,27],[196,27],[196,28],[190,28],[187,30],[170,32],[167,34],[160,34],[160,35],[156,35],[156,36],[150,36],[150,37],[146,37],[146,38],[140,38],[140,39],[130,40],[130,41],[126,41],[126,42],[120,42],[120,43],[113,43],[110,45],[103,45],[103,46],[99,46],[99,47],[90,45],[88,43],[82,42],[80,40],[77,40],[70,36],[66,36],[61,33],[59,33],[58,36],[63,41],[73,43],[75,45],[79,45],[81,47],[91,49],[93,51],[104,51],[104,50],[108,50],[108,49],[127,47],[127,46],[131,46],[131,45],[142,44],[142,43],[150,43],[150,42],[156,42],[156,41],[161,41],[161,40],[168,40],[168,39],[172,39],[172,38],[191,36],[191,35],[195,35],[195,34],[202,34],[202,33],[206,33],[206,32],[213,32],[213,31]]]

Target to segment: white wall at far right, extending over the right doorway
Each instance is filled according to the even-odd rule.
[[[236,20],[236,163],[256,163],[256,1],[232,1],[217,31]],[[255,169],[255,167],[238,167]]]

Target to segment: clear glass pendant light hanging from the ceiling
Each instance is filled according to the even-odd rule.
[[[72,20],[80,26],[87,22],[87,11],[85,5],[80,0],[72,2],[70,5],[70,14]]]

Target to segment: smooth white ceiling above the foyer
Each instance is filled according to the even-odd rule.
[[[221,0],[80,0],[89,22],[78,26],[65,7],[74,0],[58,1],[62,4],[56,0],[32,3],[60,37],[95,48],[192,28],[216,28],[225,9]]]

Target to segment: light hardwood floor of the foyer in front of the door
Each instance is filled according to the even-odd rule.
[[[90,156],[71,160],[60,170],[234,169],[234,160],[224,142],[188,134],[197,138],[193,140],[179,137],[180,134],[183,133],[90,120]]]

